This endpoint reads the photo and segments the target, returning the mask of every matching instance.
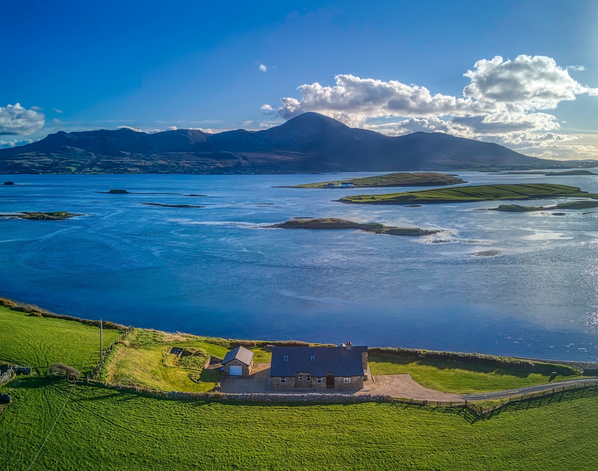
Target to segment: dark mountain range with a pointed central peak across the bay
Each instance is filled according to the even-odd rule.
[[[263,131],[59,131],[0,149],[0,173],[287,173],[556,166],[443,133],[389,137],[304,113]]]

